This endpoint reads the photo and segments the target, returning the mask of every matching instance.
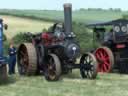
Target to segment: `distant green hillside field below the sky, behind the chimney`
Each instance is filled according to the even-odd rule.
[[[18,17],[29,17],[34,19],[61,21],[63,20],[63,11],[56,10],[8,10],[1,9],[0,14],[14,15]],[[75,22],[97,22],[122,18],[122,15],[128,14],[127,11],[111,10],[74,10],[73,21]]]

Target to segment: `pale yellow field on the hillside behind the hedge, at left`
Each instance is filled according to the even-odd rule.
[[[18,18],[7,15],[0,15],[5,24],[8,24],[8,30],[4,33],[10,39],[19,32],[41,32],[44,28],[49,28],[53,23],[37,21],[25,18]]]

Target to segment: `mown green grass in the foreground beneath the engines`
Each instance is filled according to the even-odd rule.
[[[1,96],[127,96],[128,75],[100,74],[96,80],[81,79],[78,71],[48,82],[43,76],[9,76],[0,86]]]

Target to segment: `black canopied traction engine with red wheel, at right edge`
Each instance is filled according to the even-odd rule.
[[[121,18],[88,27],[93,29],[98,71],[128,73],[128,20]],[[97,42],[100,47],[95,46]]]

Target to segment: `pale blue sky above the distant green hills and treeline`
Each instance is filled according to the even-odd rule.
[[[72,3],[74,10],[80,8],[128,10],[128,0],[0,0],[0,8],[62,10],[64,3]]]

